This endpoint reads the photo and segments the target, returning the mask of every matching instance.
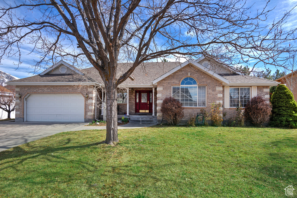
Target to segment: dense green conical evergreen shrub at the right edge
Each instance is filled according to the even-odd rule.
[[[293,93],[285,86],[278,85],[271,96],[272,127],[297,127],[297,103]]]

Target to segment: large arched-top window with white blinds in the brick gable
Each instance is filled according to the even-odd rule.
[[[206,107],[206,86],[198,86],[194,78],[186,77],[180,86],[172,87],[172,97],[184,107]]]

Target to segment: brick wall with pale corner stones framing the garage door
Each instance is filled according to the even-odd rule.
[[[20,99],[15,100],[15,121],[24,121],[24,98],[29,94],[34,93],[80,93],[85,98],[86,93],[89,94],[89,99],[85,99],[85,122],[89,122],[95,119],[95,107],[94,107],[94,88],[88,86],[74,86],[74,85],[32,85],[32,86],[16,86],[15,92],[21,94]]]

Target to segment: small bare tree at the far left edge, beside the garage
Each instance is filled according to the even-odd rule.
[[[7,118],[10,113],[15,110],[15,93],[0,86],[0,109],[7,112]]]

